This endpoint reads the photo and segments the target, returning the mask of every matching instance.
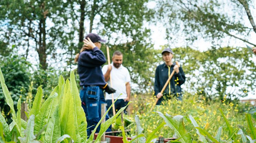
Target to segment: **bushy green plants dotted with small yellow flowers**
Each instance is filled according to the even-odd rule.
[[[126,127],[126,130],[131,130],[130,132],[127,132],[127,135],[128,137],[137,135],[137,128],[135,127],[136,121],[133,118],[135,115],[138,115],[141,122],[141,128],[144,129],[142,134],[144,134],[144,136],[147,138],[149,134],[152,133],[164,121],[160,116],[156,116],[156,114],[149,112],[149,109],[155,102],[155,98],[152,95],[137,95],[136,98],[131,100],[134,100],[135,102],[129,106],[131,113],[129,118],[131,119],[132,123]],[[184,126],[186,127],[186,131],[191,134],[192,141],[199,142],[202,139],[202,136],[197,135],[198,130],[195,127],[204,129],[212,137],[215,137],[216,140],[228,140],[234,131],[237,132],[237,125],[243,125],[244,127],[247,125],[244,112],[254,109],[252,105],[246,109],[243,109],[243,104],[248,103],[229,103],[228,101],[220,102],[218,100],[206,102],[206,98],[202,95],[189,94],[185,92],[182,101],[176,99],[164,101],[163,105],[155,106],[153,111],[162,112],[164,115],[182,115]],[[233,128],[231,133],[229,132],[229,129],[227,128],[225,120],[223,119],[219,109],[216,107],[223,109],[223,114],[228,120],[230,127]],[[190,116],[194,117],[194,121],[197,122],[196,124],[198,126],[194,125],[195,123],[193,123],[193,120],[190,119]],[[125,117],[128,118],[127,116]],[[254,124],[255,120],[252,121],[252,125]],[[222,127],[222,135],[217,135],[217,132],[220,132],[218,131],[220,127]],[[251,136],[251,133],[247,133],[247,131],[245,133],[246,135]],[[167,126],[164,126],[162,129],[157,131],[156,135],[158,137],[163,136],[164,138],[178,138],[177,135],[175,135],[175,131]],[[235,133],[235,135],[236,140],[241,141],[242,136],[237,135],[237,133]],[[205,139],[208,142],[208,137],[205,137]],[[205,140],[203,141],[205,142]]]

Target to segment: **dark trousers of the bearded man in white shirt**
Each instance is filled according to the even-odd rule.
[[[106,100],[107,103],[107,109],[111,106],[112,104],[112,100]],[[118,110],[120,110],[122,107],[126,106],[128,104],[128,101],[125,101],[124,99],[117,99],[117,101],[115,102],[115,110],[116,112]],[[126,109],[124,110],[124,113],[126,114]],[[109,117],[113,116],[113,109],[111,107],[111,109],[108,111],[108,115]]]

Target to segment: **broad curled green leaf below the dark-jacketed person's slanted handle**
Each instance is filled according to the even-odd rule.
[[[158,113],[165,121],[166,125],[169,126],[174,130],[174,132],[181,138],[179,141],[183,143],[191,143],[191,135],[186,132],[184,123],[183,123],[183,116],[177,115],[173,118],[169,114],[163,114],[161,112]]]

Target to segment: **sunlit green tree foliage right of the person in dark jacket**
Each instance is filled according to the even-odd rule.
[[[231,101],[247,96],[256,87],[256,66],[246,48],[223,47],[200,52],[186,47],[174,48],[173,52],[186,74],[188,92],[196,92],[207,100]]]

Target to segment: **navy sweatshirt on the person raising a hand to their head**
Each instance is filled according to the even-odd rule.
[[[101,66],[105,62],[106,58],[98,47],[81,52],[78,58],[80,86],[104,86],[106,82],[101,71]]]

